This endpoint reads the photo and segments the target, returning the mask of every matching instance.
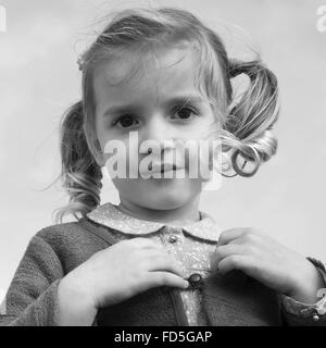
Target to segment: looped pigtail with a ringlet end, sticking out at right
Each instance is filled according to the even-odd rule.
[[[241,176],[252,176],[277,150],[277,139],[271,129],[279,114],[278,86],[274,73],[259,60],[230,60],[228,77],[240,74],[250,78],[250,86],[229,110],[225,129],[230,137],[226,137],[224,144],[226,149],[234,149],[231,163],[235,172]],[[244,160],[241,167],[239,157]],[[254,164],[251,172],[243,171],[248,162]]]

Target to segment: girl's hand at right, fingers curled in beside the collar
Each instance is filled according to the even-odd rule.
[[[211,268],[224,274],[237,269],[298,301],[313,303],[325,287],[316,268],[256,228],[224,231],[211,256]]]

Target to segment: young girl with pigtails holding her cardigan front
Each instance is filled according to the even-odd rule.
[[[189,175],[193,161],[177,146],[220,137],[242,176],[276,152],[277,79],[260,58],[231,60],[187,11],[135,9],[113,17],[79,65],[83,99],[62,124],[71,201],[61,223],[32,238],[1,324],[325,325],[323,263],[256,228],[221,232],[199,210],[204,179]],[[250,83],[235,100],[231,79],[240,74]],[[154,141],[161,158],[147,170],[173,175],[145,177],[140,165],[137,177],[112,178],[121,203],[100,206],[111,140],[127,149],[127,169],[153,151],[141,144]],[[62,223],[67,213],[77,221]]]

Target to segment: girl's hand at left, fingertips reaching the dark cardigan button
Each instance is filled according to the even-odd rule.
[[[95,253],[65,277],[65,288],[80,289],[96,309],[158,286],[186,288],[181,270],[163,247],[147,238],[120,241]],[[68,293],[67,293],[68,294]]]

